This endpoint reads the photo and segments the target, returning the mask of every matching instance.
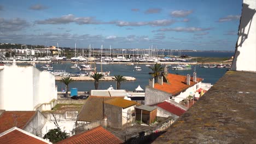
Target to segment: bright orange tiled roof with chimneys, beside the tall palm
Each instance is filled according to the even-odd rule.
[[[187,76],[184,75],[167,74],[166,79],[168,80],[168,83],[163,82],[162,85],[160,85],[159,83],[155,83],[154,88],[160,91],[171,93],[172,95],[177,95],[178,93],[196,84],[196,82],[192,81],[193,77],[191,77],[190,85],[187,85],[185,83],[186,78]],[[201,78],[196,79],[197,82],[200,82],[202,80],[203,79]]]

